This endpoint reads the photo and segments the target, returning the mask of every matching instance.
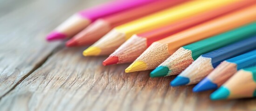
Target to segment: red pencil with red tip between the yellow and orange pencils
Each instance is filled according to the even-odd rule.
[[[228,12],[238,10],[244,6],[249,6],[255,3],[255,0],[240,1],[230,4],[228,6],[222,6],[220,8],[197,14],[188,19],[180,20],[171,25],[161,27],[159,29],[148,31],[141,34],[135,34],[125,43],[123,43],[115,52],[113,52],[104,62],[104,65],[121,64],[133,62],[139,55],[145,51],[153,42],[162,38],[168,37],[179,31],[190,28],[194,25],[199,25],[210,19],[214,19]]]

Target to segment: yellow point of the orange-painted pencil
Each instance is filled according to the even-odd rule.
[[[147,65],[144,62],[134,62],[128,68],[125,69],[125,73],[131,73],[135,71],[144,71]]]

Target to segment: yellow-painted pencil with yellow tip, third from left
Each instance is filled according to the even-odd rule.
[[[237,0],[192,0],[179,6],[174,6],[166,10],[153,13],[141,19],[115,27],[91,47],[84,50],[83,55],[110,55],[133,34],[157,29],[174,23],[180,19],[185,19],[195,14],[206,12],[234,2],[237,2]]]

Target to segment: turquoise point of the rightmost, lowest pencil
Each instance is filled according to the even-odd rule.
[[[227,99],[229,94],[229,90],[226,87],[221,86],[218,90],[210,95],[210,98],[212,100]]]

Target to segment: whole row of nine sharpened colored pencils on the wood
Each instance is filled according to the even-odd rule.
[[[71,38],[72,37],[72,38]],[[74,14],[48,37],[126,73],[179,74],[171,86],[215,90],[212,100],[256,96],[256,0],[116,0]]]

